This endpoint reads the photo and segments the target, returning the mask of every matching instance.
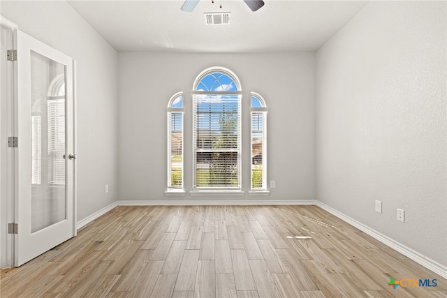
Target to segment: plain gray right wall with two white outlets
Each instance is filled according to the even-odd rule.
[[[316,115],[317,199],[447,265],[446,2],[369,3],[316,54]]]

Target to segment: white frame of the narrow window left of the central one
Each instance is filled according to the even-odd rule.
[[[173,103],[177,98],[182,98],[182,107],[173,107]],[[165,195],[185,195],[184,191],[184,96],[183,92],[177,92],[174,94],[170,100],[168,101],[168,107],[166,108],[167,114],[167,150],[166,150],[166,161],[167,161],[167,179],[166,179],[166,191]],[[181,179],[182,185],[181,187],[174,187],[172,185],[172,174],[173,174],[173,161],[172,161],[172,116],[173,114],[181,115],[181,124],[182,124],[182,133],[181,133],[181,151],[182,151],[182,161],[180,163],[181,166]]]

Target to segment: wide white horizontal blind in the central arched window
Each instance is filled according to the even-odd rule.
[[[194,188],[240,189],[241,95],[193,95]]]

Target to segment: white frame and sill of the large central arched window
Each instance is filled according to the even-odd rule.
[[[223,75],[228,76],[235,84],[236,91],[203,91],[198,89],[200,82],[203,81],[205,77],[208,75],[212,75],[213,73],[221,73]],[[216,82],[216,81],[214,81]],[[222,84],[221,84],[222,85]],[[212,84],[214,86],[214,84]],[[191,195],[243,195],[242,191],[242,88],[240,85],[240,80],[237,78],[235,73],[228,68],[223,68],[219,66],[207,68],[202,71],[193,83],[193,90],[191,91],[191,95],[193,96],[192,106],[193,106],[193,123],[192,123],[192,134],[193,134],[193,186]],[[207,95],[237,95],[237,148],[231,150],[232,152],[237,152],[237,186],[228,187],[228,186],[197,186],[197,153],[200,152],[201,149],[197,147],[197,137],[198,137],[198,96],[207,96]],[[219,151],[219,150],[216,150]],[[224,151],[224,150],[221,150]],[[210,151],[211,152],[211,151]]]

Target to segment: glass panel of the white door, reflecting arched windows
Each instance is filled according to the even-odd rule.
[[[31,51],[31,232],[66,219],[65,66]]]

